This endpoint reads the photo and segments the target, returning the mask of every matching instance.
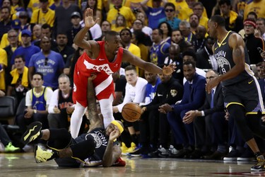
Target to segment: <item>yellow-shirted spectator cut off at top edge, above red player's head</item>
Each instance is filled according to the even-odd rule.
[[[118,14],[121,14],[126,19],[126,26],[131,26],[135,20],[134,13],[132,13],[131,8],[122,6],[122,0],[114,0],[114,7],[110,8],[110,11],[107,13],[107,21],[109,21],[112,26],[115,25],[115,19]]]

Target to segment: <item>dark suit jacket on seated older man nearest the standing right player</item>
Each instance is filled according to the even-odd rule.
[[[222,84],[218,84],[216,87],[216,92],[213,95],[213,108],[211,108],[211,93],[206,92],[204,105],[199,108],[199,110],[204,110],[205,116],[225,111],[222,87]]]

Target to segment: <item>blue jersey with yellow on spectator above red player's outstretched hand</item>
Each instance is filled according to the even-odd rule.
[[[169,48],[170,44],[167,42],[160,42],[159,45],[153,44],[150,50],[150,61],[153,64],[163,64]]]

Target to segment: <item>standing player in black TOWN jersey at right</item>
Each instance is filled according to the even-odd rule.
[[[257,79],[247,64],[249,55],[245,42],[237,33],[225,30],[225,19],[222,16],[211,17],[208,21],[208,33],[211,38],[217,39],[213,53],[222,75],[208,81],[206,90],[211,93],[211,89],[222,81],[225,107],[235,118],[242,138],[258,160],[251,170],[263,171],[264,156],[259,152],[254,135],[265,138],[265,127],[261,125],[261,114],[265,113],[264,104]]]

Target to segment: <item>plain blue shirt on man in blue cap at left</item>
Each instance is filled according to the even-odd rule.
[[[30,63],[30,57],[37,52],[40,52],[40,48],[35,45],[30,45],[28,47],[18,47],[12,55],[11,64],[14,64],[14,59],[17,55],[22,55],[25,59],[25,66],[28,67],[28,64]]]

